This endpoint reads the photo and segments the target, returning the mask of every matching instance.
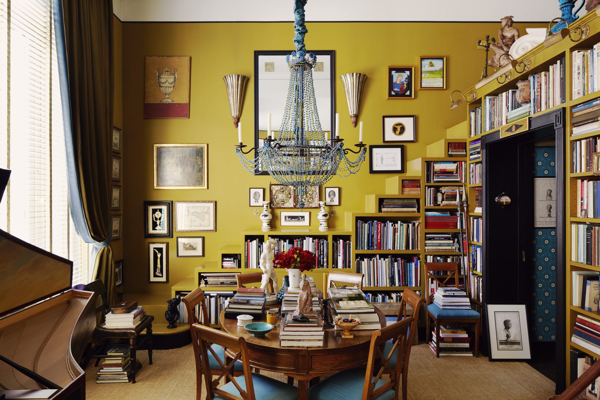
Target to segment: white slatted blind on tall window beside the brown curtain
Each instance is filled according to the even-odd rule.
[[[68,206],[52,0],[0,1],[0,167],[12,170],[0,228],[69,258],[73,284],[88,283],[91,246]]]

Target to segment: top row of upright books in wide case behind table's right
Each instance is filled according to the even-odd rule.
[[[421,221],[356,221],[359,250],[415,250],[421,243]]]

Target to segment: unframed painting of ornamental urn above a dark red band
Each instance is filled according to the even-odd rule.
[[[146,56],[144,118],[190,118],[191,57]]]

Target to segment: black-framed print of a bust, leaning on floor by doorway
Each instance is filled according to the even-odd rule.
[[[485,303],[485,311],[490,361],[531,359],[525,303]]]

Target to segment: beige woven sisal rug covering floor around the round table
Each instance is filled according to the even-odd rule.
[[[139,351],[143,368],[136,375],[136,384],[97,384],[96,371],[100,367],[91,362],[85,371],[86,399],[194,400],[196,366],[192,351],[191,344],[174,350],[154,350],[152,365],[148,365],[148,352]],[[286,381],[283,374],[260,373]],[[524,362],[488,362],[487,357],[481,356],[436,359],[428,345],[413,346],[408,398],[439,400],[446,397],[442,393],[448,393],[451,399],[545,400],[554,394],[554,382]]]

